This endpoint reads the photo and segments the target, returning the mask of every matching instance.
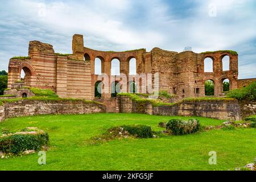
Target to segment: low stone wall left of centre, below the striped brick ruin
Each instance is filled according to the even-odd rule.
[[[0,121],[7,118],[40,114],[92,114],[105,113],[106,107],[96,103],[85,103],[82,100],[19,100],[0,106]]]

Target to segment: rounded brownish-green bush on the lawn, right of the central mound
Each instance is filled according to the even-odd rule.
[[[191,134],[200,130],[200,122],[197,119],[188,119],[188,121],[171,119],[166,124],[166,129],[171,130],[174,135]]]

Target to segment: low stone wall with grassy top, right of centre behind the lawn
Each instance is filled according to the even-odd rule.
[[[223,120],[241,120],[237,100],[182,101],[174,105],[152,106],[151,102],[138,103],[127,96],[119,96],[120,113],[154,115],[201,116]]]

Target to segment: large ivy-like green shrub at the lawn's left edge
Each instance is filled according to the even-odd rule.
[[[42,130],[7,134],[0,137],[0,151],[16,155],[26,150],[38,151],[43,146],[47,146],[48,143],[48,133]]]

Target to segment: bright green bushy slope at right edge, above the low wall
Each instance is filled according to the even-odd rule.
[[[226,97],[236,98],[237,100],[256,101],[256,81],[244,88],[231,90],[226,94]]]

